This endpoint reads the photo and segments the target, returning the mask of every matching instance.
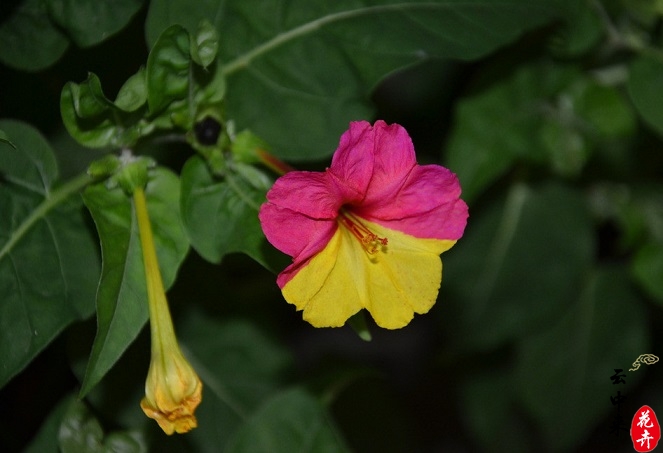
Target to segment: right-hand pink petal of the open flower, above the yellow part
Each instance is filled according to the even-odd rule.
[[[353,208],[353,212],[387,228],[420,238],[456,240],[467,223],[455,174],[439,165],[416,166],[390,196]]]

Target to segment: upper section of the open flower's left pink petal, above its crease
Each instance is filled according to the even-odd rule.
[[[336,218],[344,203],[328,174],[310,171],[293,171],[277,179],[267,200],[313,219]]]

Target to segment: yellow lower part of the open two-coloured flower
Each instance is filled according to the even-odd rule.
[[[370,254],[339,226],[327,246],[283,287],[285,299],[315,327],[342,326],[366,308],[379,326],[397,329],[435,304],[442,281],[439,255],[456,241],[420,239],[365,220],[362,224],[387,238],[388,245]]]

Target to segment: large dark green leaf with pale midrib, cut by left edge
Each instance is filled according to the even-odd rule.
[[[65,327],[94,311],[95,240],[77,194],[86,175],[57,186],[53,152],[37,130],[0,121],[0,387]]]

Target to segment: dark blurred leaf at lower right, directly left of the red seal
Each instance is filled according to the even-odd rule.
[[[523,338],[514,387],[550,451],[569,451],[613,406],[610,376],[649,351],[647,317],[622,267],[598,269],[566,314]],[[642,375],[628,373],[633,388]]]

